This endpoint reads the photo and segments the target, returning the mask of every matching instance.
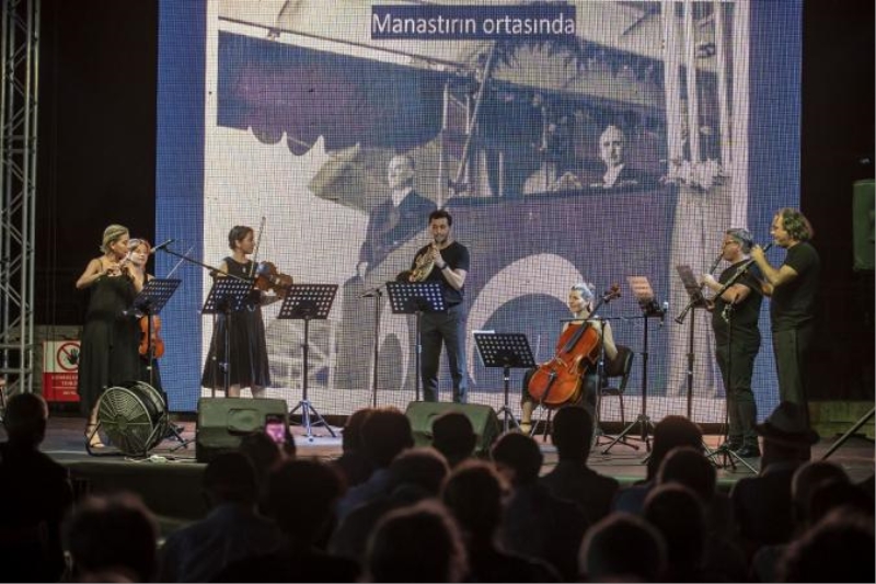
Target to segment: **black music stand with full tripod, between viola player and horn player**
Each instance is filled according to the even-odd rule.
[[[304,343],[301,345],[303,351],[302,373],[303,381],[301,385],[301,401],[298,405],[289,410],[291,417],[299,409],[301,410],[301,425],[307,431],[308,440],[313,442],[311,415],[316,419],[315,424],[322,424],[332,437],[335,431],[320,415],[320,412],[310,403],[308,399],[308,353],[310,351],[310,321],[313,319],[325,320],[332,310],[332,304],[337,294],[337,284],[295,284],[289,287],[286,298],[283,299],[278,319],[296,319],[304,321]]]

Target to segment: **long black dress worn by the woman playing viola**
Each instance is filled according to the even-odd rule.
[[[252,262],[240,264],[232,257],[224,259],[228,273],[234,276],[247,277]],[[270,385],[270,368],[267,360],[267,343],[265,342],[265,323],[262,320],[262,309],[258,306],[261,293],[255,290],[250,306],[238,312],[232,312],[231,331],[229,336],[229,353],[231,354],[229,385],[240,387],[267,387]],[[224,377],[222,368],[226,355],[226,316],[216,317],[216,328],[212,331],[207,362],[204,364],[204,374],[200,385],[207,388],[222,389]]]

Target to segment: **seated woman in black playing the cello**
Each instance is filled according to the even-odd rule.
[[[618,347],[614,345],[614,336],[611,333],[611,323],[608,321],[600,321],[591,318],[593,311],[593,287],[589,284],[578,283],[572,286],[568,290],[568,309],[572,311],[572,317],[575,320],[563,324],[562,332],[573,324],[581,324],[585,327],[592,327],[597,334],[601,335],[604,331],[604,350],[606,359],[612,360],[618,356]],[[520,430],[529,434],[532,431],[532,412],[535,409],[535,400],[529,393],[529,380],[532,374],[538,369],[530,369],[523,376],[523,392],[520,401],[522,409],[522,416],[520,420]],[[588,367],[581,379],[581,392],[575,403],[566,403],[564,405],[579,405],[585,408],[596,419],[596,403],[597,392],[599,389],[599,371],[596,365]]]

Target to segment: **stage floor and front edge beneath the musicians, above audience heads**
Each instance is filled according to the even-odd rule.
[[[95,450],[100,456],[89,456],[82,434],[84,421],[74,416],[56,415],[49,419],[43,450],[70,469],[77,495],[116,490],[139,494],[158,517],[162,534],[166,535],[181,525],[203,517],[207,511],[200,491],[205,465],[195,460],[195,422],[176,423],[183,427],[182,437],[193,440],[187,447],[181,447],[178,440],[165,439],[150,450],[148,458],[135,459],[114,455],[115,449],[111,446]],[[314,437],[309,440],[303,428],[292,426],[298,456],[326,461],[341,456],[341,428],[333,426],[333,430],[336,437],[331,437],[323,427],[314,427]],[[0,435],[3,433],[0,432]],[[638,436],[638,428],[631,435]],[[839,435],[822,438],[812,448],[812,459],[820,459],[838,437]],[[548,472],[556,463],[556,450],[550,444],[550,438],[543,442],[541,435],[538,435],[537,439],[544,454],[542,472]],[[722,436],[706,435],[705,442],[710,448],[714,448],[722,442]],[[603,454],[606,444],[600,440],[600,446],[591,451],[589,465],[602,474],[614,477],[621,484],[638,481],[645,477],[643,461],[647,453],[641,442],[633,439],[631,444],[638,446],[638,450],[621,443],[609,454]],[[841,465],[853,481],[863,480],[874,472],[873,443],[860,435],[853,435],[829,460]],[[759,458],[747,461],[759,469]],[[736,481],[753,474],[738,462],[736,469],[721,468],[724,466],[721,457],[717,462],[718,484],[722,490],[729,491]]]

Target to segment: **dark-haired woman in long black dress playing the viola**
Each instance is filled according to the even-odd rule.
[[[253,277],[254,263],[246,256],[255,249],[255,234],[251,227],[234,226],[228,233],[230,256],[222,260],[216,277]],[[264,293],[254,290],[249,306],[229,317],[231,331],[229,336],[229,398],[239,398],[242,387],[249,387],[253,398],[265,397],[265,388],[270,385],[270,370],[267,360],[267,343],[265,342],[265,323],[262,320],[261,305],[266,304]],[[224,371],[219,365],[226,362],[224,314],[216,318],[216,328],[204,366],[200,385],[208,388],[224,387]]]

